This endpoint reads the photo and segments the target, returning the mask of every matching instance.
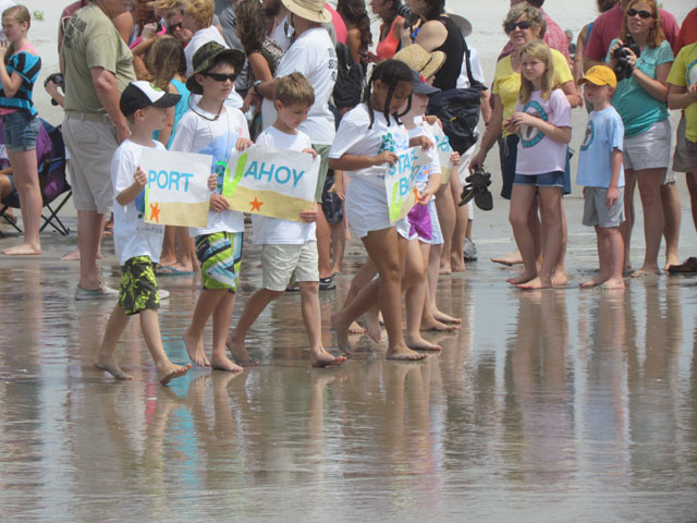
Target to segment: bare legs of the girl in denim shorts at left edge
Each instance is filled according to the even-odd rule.
[[[13,168],[14,184],[20,195],[24,242],[5,248],[2,254],[21,256],[41,254],[39,226],[41,220],[41,188],[36,166],[36,149],[12,150],[8,148],[8,157]]]

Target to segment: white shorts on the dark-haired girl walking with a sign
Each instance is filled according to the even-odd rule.
[[[358,238],[370,231],[381,231],[396,227],[396,232],[408,240],[409,222],[406,217],[392,223],[388,210],[388,196],[383,187],[367,177],[352,177],[346,185],[344,210],[348,227]]]

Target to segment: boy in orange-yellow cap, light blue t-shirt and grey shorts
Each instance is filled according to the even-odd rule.
[[[624,125],[610,104],[617,78],[610,68],[596,65],[578,84],[585,85],[586,98],[592,104],[594,111],[588,115],[586,136],[578,155],[576,183],[584,186],[583,222],[596,228],[600,258],[598,276],[580,287],[624,289],[624,242],[620,233],[620,223],[624,221]]]

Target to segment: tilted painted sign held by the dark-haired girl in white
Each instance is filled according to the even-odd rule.
[[[388,195],[390,221],[394,223],[404,218],[418,197],[416,175],[427,169],[428,155],[420,147],[412,147],[400,154],[400,161],[387,168],[384,190]]]

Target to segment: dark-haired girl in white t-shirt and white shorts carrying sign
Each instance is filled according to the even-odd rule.
[[[329,168],[343,170],[348,177],[345,196],[348,223],[380,275],[332,316],[339,346],[350,350],[352,321],[379,303],[389,338],[387,357],[407,361],[423,360],[426,355],[412,351],[402,332],[400,297],[408,287],[402,282],[413,281],[408,273],[404,275],[409,224],[406,218],[390,220],[384,177],[386,168],[400,162],[409,147],[430,144],[425,136],[409,139],[400,123],[399,111],[411,107],[412,88],[408,65],[396,60],[380,63],[372,71],[364,102],[341,120],[329,153]],[[378,341],[379,330],[371,336]]]

